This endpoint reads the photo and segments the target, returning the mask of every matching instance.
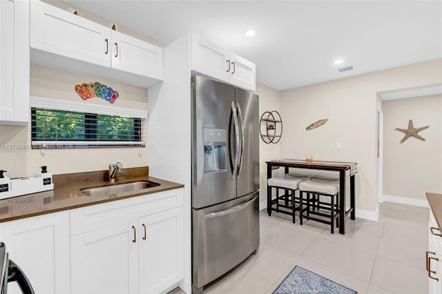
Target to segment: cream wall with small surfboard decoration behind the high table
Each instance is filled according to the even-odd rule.
[[[356,215],[378,206],[377,92],[442,82],[442,59],[414,63],[281,92],[281,157],[356,161]],[[305,128],[329,119],[314,130]],[[336,149],[340,141],[342,149]]]

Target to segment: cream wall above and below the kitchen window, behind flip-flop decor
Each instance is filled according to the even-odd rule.
[[[116,81],[108,81],[77,75],[52,68],[31,65],[30,95],[83,101],[75,92],[75,85],[99,81],[119,92],[115,106],[147,109],[147,89]],[[93,98],[85,104],[111,105],[104,99]],[[30,145],[30,127],[0,126],[0,146],[8,144]],[[45,150],[42,155],[38,149],[0,148],[0,168],[8,170],[9,177],[25,177],[39,173],[39,166],[48,166],[55,174],[78,173],[90,170],[106,170],[108,164],[121,161],[123,168],[147,166],[147,148],[89,148],[73,150]]]

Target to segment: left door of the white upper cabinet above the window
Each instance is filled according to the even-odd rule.
[[[111,66],[110,28],[41,1],[31,1],[30,10],[32,48]]]

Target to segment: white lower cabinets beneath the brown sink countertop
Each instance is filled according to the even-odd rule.
[[[35,293],[164,293],[184,277],[182,206],[166,190],[5,222],[0,240]]]

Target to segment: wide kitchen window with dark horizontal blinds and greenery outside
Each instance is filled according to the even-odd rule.
[[[32,148],[145,146],[137,117],[31,108],[31,119]]]

